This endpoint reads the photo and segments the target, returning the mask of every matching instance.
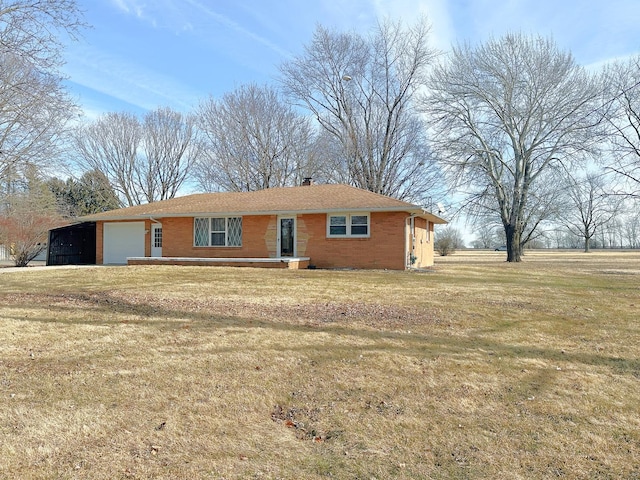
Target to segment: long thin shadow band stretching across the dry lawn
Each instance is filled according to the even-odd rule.
[[[8,296],[11,297],[11,296]],[[106,294],[98,295],[31,295],[24,294],[11,299],[10,305],[0,307],[0,317],[19,322],[41,322],[61,325],[135,325],[160,330],[161,333],[183,330],[185,324],[191,332],[206,334],[226,328],[265,329],[291,334],[326,333],[335,336],[351,336],[372,344],[338,346],[331,348],[331,355],[342,353],[345,357],[360,354],[362,351],[388,350],[397,354],[423,358],[450,356],[463,358],[471,354],[487,357],[535,359],[558,363],[578,363],[594,367],[607,367],[614,373],[631,374],[640,378],[640,359],[627,359],[597,353],[566,352],[560,349],[529,345],[509,345],[477,335],[425,335],[420,333],[399,332],[385,329],[365,328],[347,324],[348,319],[336,317],[335,320],[317,321],[314,318],[291,318],[288,307],[283,305],[280,312],[270,311],[265,318],[246,315],[229,315],[217,312],[190,311],[166,308],[151,303],[135,303],[113,298]],[[12,308],[32,312],[37,315],[11,315]],[[268,310],[265,308],[265,310]],[[85,314],[86,313],[86,314]],[[280,315],[278,313],[281,313]],[[366,320],[366,319],[363,319]],[[428,322],[428,320],[427,320]],[[441,330],[434,323],[434,330]],[[272,346],[270,348],[273,348]],[[310,351],[311,346],[287,345],[291,351]],[[318,345],[318,351],[326,349],[326,342]],[[189,352],[185,352],[189,353]]]

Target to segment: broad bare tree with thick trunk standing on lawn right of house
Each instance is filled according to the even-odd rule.
[[[452,185],[466,189],[472,213],[499,216],[507,260],[520,261],[555,213],[558,175],[595,148],[598,79],[552,40],[514,34],[455,47],[430,87],[424,106]]]

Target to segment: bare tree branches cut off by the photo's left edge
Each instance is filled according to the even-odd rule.
[[[0,194],[58,153],[74,114],[58,74],[61,37],[82,26],[75,0],[0,1]]]

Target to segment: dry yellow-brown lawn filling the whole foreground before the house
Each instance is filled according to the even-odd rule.
[[[0,273],[3,478],[638,478],[640,257]]]

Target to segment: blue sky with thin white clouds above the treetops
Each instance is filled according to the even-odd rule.
[[[638,0],[78,0],[92,28],[66,50],[88,118],[160,106],[189,111],[242,84],[272,82],[317,24],[368,31],[425,14],[432,45],[508,31],[552,35],[583,65],[640,52]]]

